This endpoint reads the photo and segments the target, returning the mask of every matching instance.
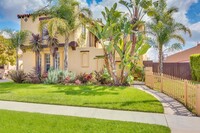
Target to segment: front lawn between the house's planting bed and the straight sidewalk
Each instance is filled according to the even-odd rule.
[[[156,98],[132,87],[1,83],[0,100],[163,113]]]

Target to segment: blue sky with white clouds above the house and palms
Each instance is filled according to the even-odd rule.
[[[81,7],[88,7],[86,0],[78,0],[81,3]],[[105,7],[110,8],[114,3],[118,2],[119,0],[102,0],[98,4],[93,1],[90,5],[90,9],[93,12],[93,17],[95,19],[102,18],[101,12],[104,10]],[[186,13],[190,6],[194,3],[197,3],[198,0],[167,0],[168,6],[176,6],[179,8],[179,12],[174,15],[176,21],[181,22],[187,25],[192,33],[193,36],[191,38],[188,35],[184,35],[186,40],[186,46],[184,49],[195,46],[198,41],[200,41],[200,22],[190,24],[189,20],[186,16]],[[0,16],[4,14],[4,18],[0,17],[0,21],[4,20],[11,20],[18,22],[17,14],[27,13],[31,10],[38,9],[47,4],[47,0],[1,0],[0,1]],[[118,9],[123,12],[127,12],[126,7],[118,4]],[[150,50],[148,52],[148,56],[151,59],[156,59],[157,54],[155,50]]]

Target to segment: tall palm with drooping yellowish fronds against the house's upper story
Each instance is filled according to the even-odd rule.
[[[64,45],[64,69],[68,70],[68,44],[69,35],[74,31],[79,23],[77,19],[80,14],[91,15],[91,12],[87,8],[76,10],[79,3],[76,0],[58,0],[56,4],[50,8],[42,8],[33,14],[34,19],[39,15],[48,15],[51,19],[48,22],[48,31],[51,37],[60,34],[65,37]]]

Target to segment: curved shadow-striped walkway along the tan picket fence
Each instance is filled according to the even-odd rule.
[[[183,106],[183,104],[165,95],[164,93],[152,90],[145,85],[134,85],[134,87],[143,90],[156,97],[162,103],[165,114],[195,116],[193,113],[188,111],[188,109],[185,106]]]

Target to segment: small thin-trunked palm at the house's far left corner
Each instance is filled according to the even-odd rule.
[[[19,31],[14,32],[11,30],[6,30],[6,32],[10,36],[11,45],[16,50],[16,71],[19,70],[19,50],[25,51],[24,43],[26,42],[28,32],[27,31]]]

